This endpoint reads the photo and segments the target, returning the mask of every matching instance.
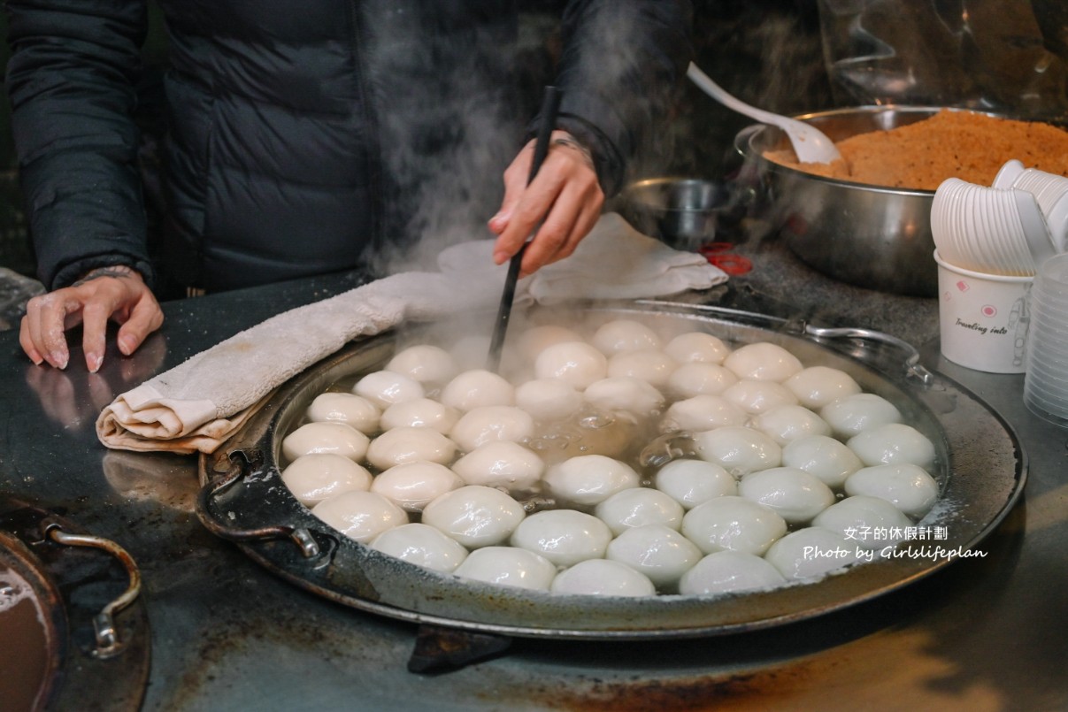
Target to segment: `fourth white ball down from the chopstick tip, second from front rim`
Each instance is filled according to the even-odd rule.
[[[506,541],[525,516],[523,506],[514,499],[480,485],[446,492],[423,508],[424,524],[440,529],[468,549]]]

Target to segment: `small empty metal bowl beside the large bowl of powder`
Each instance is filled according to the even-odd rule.
[[[621,212],[641,233],[679,250],[696,250],[716,238],[731,193],[701,178],[646,178],[623,191]]]

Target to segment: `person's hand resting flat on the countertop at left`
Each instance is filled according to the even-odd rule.
[[[64,332],[80,323],[85,367],[96,373],[104,363],[109,318],[121,325],[116,339],[126,355],[163,323],[156,297],[129,267],[94,269],[69,287],[34,297],[26,304],[18,341],[33,363],[66,368],[70,352]]]

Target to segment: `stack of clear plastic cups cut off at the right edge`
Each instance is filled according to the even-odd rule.
[[[1031,291],[1023,402],[1068,426],[1068,253],[1042,263]]]

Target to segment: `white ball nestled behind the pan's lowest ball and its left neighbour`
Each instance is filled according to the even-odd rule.
[[[547,509],[531,515],[512,533],[512,545],[540,554],[560,567],[602,558],[612,532],[593,515]]]

